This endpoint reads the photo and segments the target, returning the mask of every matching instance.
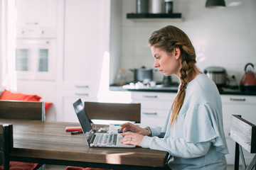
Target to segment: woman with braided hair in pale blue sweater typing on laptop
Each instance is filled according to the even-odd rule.
[[[220,94],[214,82],[196,67],[191,40],[182,30],[166,26],[151,34],[149,45],[154,67],[165,76],[175,74],[180,79],[178,94],[162,127],[124,123],[121,142],[169,152],[172,170],[226,169],[228,149]]]

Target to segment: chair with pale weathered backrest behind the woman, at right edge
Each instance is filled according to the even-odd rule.
[[[256,126],[247,120],[241,118],[240,115],[232,115],[230,137],[235,141],[235,170],[239,169],[239,156],[242,161],[242,169],[252,170],[255,167],[256,155],[248,166],[245,164],[242,148],[246,149],[250,154],[256,153]],[[256,167],[255,167],[256,169]]]

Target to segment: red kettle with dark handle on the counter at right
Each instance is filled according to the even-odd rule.
[[[247,69],[248,66],[251,66],[252,70]],[[247,63],[245,65],[245,74],[242,76],[242,79],[240,81],[241,91],[256,91],[256,78],[253,70],[254,65],[252,63]]]

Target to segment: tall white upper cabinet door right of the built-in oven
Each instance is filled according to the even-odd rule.
[[[105,0],[66,0],[63,81],[100,81],[109,44],[110,7]],[[107,4],[108,5],[108,4]]]

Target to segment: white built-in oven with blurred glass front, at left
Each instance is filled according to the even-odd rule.
[[[52,28],[26,25],[16,33],[18,79],[55,79],[56,40]]]

